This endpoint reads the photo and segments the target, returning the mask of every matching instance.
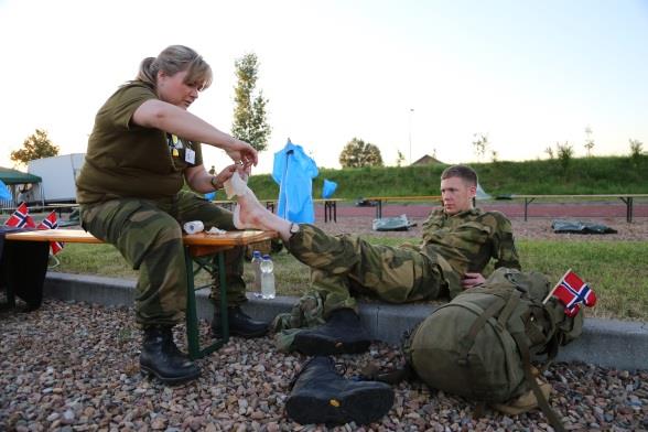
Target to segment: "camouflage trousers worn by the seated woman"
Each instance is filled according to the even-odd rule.
[[[173,325],[183,320],[187,269],[182,225],[202,220],[205,229],[236,229],[231,212],[186,191],[169,199],[120,198],[82,205],[80,218],[84,229],[115,245],[128,263],[139,270],[136,320],[143,326]],[[247,300],[244,248],[226,251],[225,267],[228,303],[240,304]],[[212,290],[215,300],[218,276]]]

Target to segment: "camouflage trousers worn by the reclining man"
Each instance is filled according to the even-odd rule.
[[[324,316],[336,309],[357,310],[352,292],[390,303],[435,299],[447,281],[439,262],[413,247],[370,245],[357,236],[331,236],[300,224],[288,249],[311,267],[311,284],[324,299]]]

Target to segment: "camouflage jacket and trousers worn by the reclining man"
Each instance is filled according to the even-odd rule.
[[[311,267],[311,283],[324,299],[324,313],[350,307],[352,292],[368,292],[390,303],[435,299],[462,292],[466,272],[495,267],[519,269],[510,222],[498,212],[478,208],[447,216],[433,212],[423,225],[419,247],[370,245],[350,235],[328,236],[303,224],[287,245]]]

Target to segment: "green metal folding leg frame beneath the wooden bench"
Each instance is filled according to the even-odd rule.
[[[188,345],[188,355],[192,359],[203,358],[206,355],[220,348],[229,341],[229,321],[227,316],[227,285],[225,282],[225,257],[224,252],[218,252],[218,276],[220,283],[220,320],[223,328],[223,338],[214,342],[212,345],[201,349],[201,332],[198,327],[198,313],[196,307],[196,290],[194,285],[193,259],[188,248],[185,248],[186,264],[186,341]]]

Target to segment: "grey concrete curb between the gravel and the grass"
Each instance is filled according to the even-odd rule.
[[[131,305],[136,282],[86,274],[48,272],[44,295],[58,300],[84,301],[106,306]],[[198,317],[210,320],[213,306],[208,290],[197,292]],[[278,313],[290,312],[296,298],[273,300],[249,299],[245,305],[256,318],[272,320]],[[402,334],[424,320],[433,305],[385,303],[360,304],[360,320],[378,341],[398,345]],[[648,369],[648,323],[588,318],[583,334],[562,347],[559,361],[583,361],[616,369]]]

